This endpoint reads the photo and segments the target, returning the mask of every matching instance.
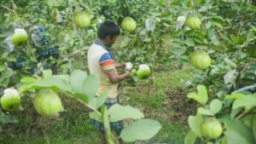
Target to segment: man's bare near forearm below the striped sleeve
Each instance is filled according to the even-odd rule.
[[[108,79],[112,84],[117,84],[121,81],[123,81],[125,78],[130,78],[130,72],[129,71],[125,71],[125,73],[123,74],[118,74],[115,71],[110,71],[107,72],[108,75]]]

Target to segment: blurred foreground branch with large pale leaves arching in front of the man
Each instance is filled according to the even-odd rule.
[[[84,106],[89,107],[94,111],[93,113],[90,113],[90,117],[101,120],[104,124],[106,141],[108,143],[118,143],[117,138],[113,137],[110,130],[110,122],[116,122],[126,118],[137,120],[121,131],[121,135],[119,136],[124,141],[148,140],[160,130],[161,126],[159,122],[153,119],[141,119],[144,118],[144,115],[136,108],[129,106],[123,107],[119,104],[115,104],[107,109],[104,105],[104,101],[106,101],[108,96],[106,95],[107,93],[95,97],[100,84],[99,78],[96,75],[87,76],[86,72],[80,70],[75,70],[70,75],[51,75],[51,71],[49,70],[43,71],[43,74],[43,78],[22,78],[21,80],[24,84],[20,85],[20,92],[24,93],[26,91],[34,91],[35,89],[52,89],[81,101]],[[42,92],[39,91],[38,95],[42,95]],[[99,107],[101,107],[101,112],[97,110]],[[43,107],[41,107],[41,110],[42,108]],[[50,115],[50,113],[40,114]],[[145,131],[147,131],[147,133],[145,133]],[[135,133],[137,134],[137,137],[132,136]]]

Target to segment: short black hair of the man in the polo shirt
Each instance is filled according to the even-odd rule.
[[[98,37],[101,39],[104,39],[108,36],[110,36],[110,37],[119,36],[119,34],[120,34],[119,26],[117,26],[112,21],[104,21],[98,27],[97,34],[98,34]]]

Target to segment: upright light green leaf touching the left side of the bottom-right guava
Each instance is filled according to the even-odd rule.
[[[195,135],[201,136],[201,123],[203,118],[201,114],[197,113],[195,116],[189,116],[189,127],[195,132]]]

